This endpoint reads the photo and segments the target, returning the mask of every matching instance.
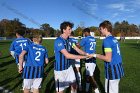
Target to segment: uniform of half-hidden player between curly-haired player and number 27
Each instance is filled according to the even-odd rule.
[[[78,39],[75,39],[75,38],[69,38],[69,41],[70,41],[70,45],[72,46],[72,44],[74,43],[75,45],[78,44]],[[70,51],[71,54],[75,54],[75,55],[79,55],[79,53],[74,50],[73,48],[71,48],[71,51]],[[80,59],[71,59],[71,64],[74,66],[74,67],[80,67]]]

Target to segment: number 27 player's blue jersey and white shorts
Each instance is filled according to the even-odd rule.
[[[87,36],[83,38],[80,42],[80,46],[84,48],[84,51],[88,54],[93,54],[96,52],[96,40],[92,36]],[[96,67],[96,59],[90,58],[85,60],[85,66],[86,66],[86,75],[93,76],[93,72]]]

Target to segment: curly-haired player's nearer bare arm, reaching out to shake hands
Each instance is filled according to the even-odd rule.
[[[88,58],[88,56],[70,54],[66,49],[62,49],[62,50],[61,50],[61,53],[62,53],[67,59],[85,59],[85,58]]]

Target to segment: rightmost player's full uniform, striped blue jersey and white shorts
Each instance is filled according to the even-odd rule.
[[[107,93],[118,93],[119,80],[124,76],[120,45],[112,35],[103,40],[103,53],[112,52],[111,62],[105,61],[105,91]]]

